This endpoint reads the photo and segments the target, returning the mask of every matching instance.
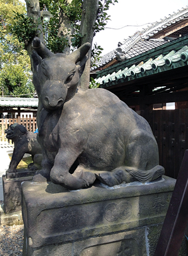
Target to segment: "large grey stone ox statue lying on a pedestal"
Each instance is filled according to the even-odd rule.
[[[114,186],[153,181],[164,174],[147,121],[105,89],[77,88],[90,44],[54,54],[32,42],[33,84],[39,97],[42,169],[33,181],[76,190],[96,178]],[[44,179],[45,177],[46,179]]]

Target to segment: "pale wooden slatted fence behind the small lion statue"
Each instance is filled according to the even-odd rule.
[[[10,124],[14,124],[14,123],[18,123],[18,124],[22,124],[26,127],[26,129],[29,132],[34,132],[37,129],[37,120],[36,118],[5,118],[5,119],[0,119],[0,146],[7,146],[7,145],[11,145],[12,141],[11,139],[8,140],[6,138],[6,133],[5,130],[8,128],[8,126]]]

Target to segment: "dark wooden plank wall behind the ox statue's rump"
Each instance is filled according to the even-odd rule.
[[[188,109],[154,110],[147,119],[159,146],[160,165],[167,176],[177,178],[188,149]]]

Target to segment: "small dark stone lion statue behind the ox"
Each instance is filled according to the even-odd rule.
[[[16,172],[16,167],[25,153],[32,156],[33,162],[28,165],[30,170],[41,169],[42,149],[37,141],[37,134],[29,132],[25,126],[14,123],[5,130],[6,138],[14,142],[13,156],[7,172]]]

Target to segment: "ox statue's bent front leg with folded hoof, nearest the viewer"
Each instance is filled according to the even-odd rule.
[[[70,167],[74,164],[80,153],[75,153],[70,149],[58,150],[55,157],[54,166],[50,173],[50,179],[53,183],[60,184],[69,190],[77,190],[89,187],[96,180],[92,172],[85,172],[81,168],[73,174],[69,173]],[[78,171],[79,169],[79,171]]]

